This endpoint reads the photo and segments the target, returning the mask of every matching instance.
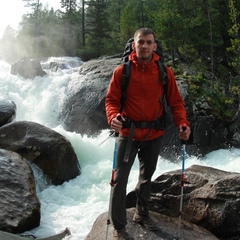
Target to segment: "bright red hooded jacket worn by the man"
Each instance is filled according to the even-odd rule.
[[[159,98],[163,95],[163,87],[159,80],[159,69],[156,64],[156,61],[159,60],[159,56],[153,53],[150,62],[139,63],[137,61],[136,52],[134,51],[130,54],[129,59],[132,61],[132,69],[122,115],[133,121],[155,121],[162,115],[163,111],[163,106],[159,103]],[[183,100],[180,96],[174,74],[168,67],[167,75],[166,95],[175,125],[177,127],[184,123],[188,125]],[[120,87],[121,81],[122,65],[114,70],[106,95],[105,107],[109,125],[112,119],[119,113],[122,95]],[[150,134],[149,131],[151,131]],[[122,129],[121,134],[128,136],[129,129]],[[134,131],[134,140],[143,141],[146,136],[148,136],[147,140],[151,140],[162,134],[162,130],[136,128]]]

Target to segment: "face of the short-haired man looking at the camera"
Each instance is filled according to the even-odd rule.
[[[157,49],[152,34],[138,34],[132,43],[133,50],[136,51],[139,62],[149,62],[152,59],[152,53]]]

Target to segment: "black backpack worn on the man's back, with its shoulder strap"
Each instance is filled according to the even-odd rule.
[[[122,112],[124,102],[126,100],[126,92],[127,92],[127,87],[128,83],[130,80],[130,75],[131,75],[131,64],[132,62],[129,61],[128,56],[130,53],[133,51],[132,49],[132,42],[134,41],[134,38],[130,38],[125,46],[123,55],[122,55],[122,61],[123,61],[123,71],[122,71],[122,82],[121,82],[121,100],[120,100],[120,109],[119,112]],[[159,42],[158,39],[156,39],[157,43],[157,50],[155,51],[159,56],[160,56],[160,61],[157,61],[156,64],[159,69],[159,80],[163,85],[163,90],[164,90],[164,95],[162,96],[162,100],[164,101],[164,105],[166,105],[166,93],[167,93],[167,70],[164,65],[164,58],[162,54],[162,45]]]

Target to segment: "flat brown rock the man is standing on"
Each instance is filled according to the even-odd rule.
[[[163,214],[150,211],[152,220],[159,226],[157,231],[149,231],[143,226],[134,223],[132,218],[135,212],[135,208],[127,209],[127,227],[128,234],[136,240],[167,240],[167,239],[180,239],[184,240],[217,240],[213,234],[206,229],[196,226],[194,224],[182,221],[179,231],[178,219],[167,217]],[[93,227],[85,240],[105,240],[108,232],[108,240],[114,240],[113,226],[107,225],[107,213],[101,214],[93,224]],[[108,226],[108,231],[107,231]]]

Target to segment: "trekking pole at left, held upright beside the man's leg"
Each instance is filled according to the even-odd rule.
[[[118,120],[121,120],[121,115],[117,116]],[[113,167],[112,167],[112,176],[111,176],[111,191],[110,191],[110,199],[109,199],[109,207],[108,207],[108,217],[107,217],[107,231],[106,231],[106,240],[108,239],[108,228],[111,224],[111,208],[112,208],[112,195],[113,195],[113,188],[114,188],[114,177],[115,177],[115,169],[116,169],[116,161],[117,161],[117,147],[118,147],[118,135],[119,133],[115,132],[115,144],[114,144],[114,151],[113,151]]]

